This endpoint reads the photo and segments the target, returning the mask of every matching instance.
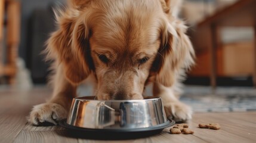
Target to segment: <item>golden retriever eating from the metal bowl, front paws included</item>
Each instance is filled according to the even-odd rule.
[[[33,107],[33,125],[67,117],[76,88],[89,75],[97,100],[142,100],[153,83],[166,116],[191,119],[178,100],[180,80],[193,64],[187,27],[177,18],[178,0],[70,0],[56,14],[57,30],[48,39],[54,60],[52,98]]]

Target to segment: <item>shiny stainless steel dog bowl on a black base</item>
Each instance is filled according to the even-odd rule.
[[[161,98],[146,100],[94,100],[74,98],[67,125],[87,129],[141,130],[164,129],[174,124],[166,118]]]

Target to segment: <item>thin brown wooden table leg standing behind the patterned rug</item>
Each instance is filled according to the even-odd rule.
[[[209,52],[210,52],[210,64],[211,64],[211,73],[210,73],[210,81],[211,81],[211,87],[214,91],[217,86],[217,27],[215,24],[212,24],[210,27],[211,32],[211,43],[209,43]]]

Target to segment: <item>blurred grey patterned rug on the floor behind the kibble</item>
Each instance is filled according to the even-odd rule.
[[[229,112],[256,110],[256,89],[246,87],[217,88],[185,86],[181,101],[194,112]]]

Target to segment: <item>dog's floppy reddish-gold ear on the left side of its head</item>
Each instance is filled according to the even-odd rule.
[[[86,23],[70,16],[57,17],[58,29],[48,39],[48,58],[57,57],[70,83],[76,85],[92,70]]]

